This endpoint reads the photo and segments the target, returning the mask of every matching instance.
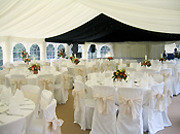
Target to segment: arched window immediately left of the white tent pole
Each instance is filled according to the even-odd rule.
[[[40,48],[37,44],[33,44],[30,48],[30,58],[31,60],[36,58],[36,60],[40,60]]]

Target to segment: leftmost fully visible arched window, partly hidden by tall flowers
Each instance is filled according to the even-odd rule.
[[[26,51],[26,48],[22,43],[18,43],[13,47],[13,61],[23,61],[22,51]]]

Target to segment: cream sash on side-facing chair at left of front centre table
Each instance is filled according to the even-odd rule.
[[[72,91],[72,95],[74,96],[74,109],[77,111],[80,110],[80,100],[79,98],[84,98],[84,90],[76,90]]]

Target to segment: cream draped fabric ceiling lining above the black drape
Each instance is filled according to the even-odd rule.
[[[0,0],[0,36],[48,38],[104,13],[122,23],[180,34],[179,0]]]

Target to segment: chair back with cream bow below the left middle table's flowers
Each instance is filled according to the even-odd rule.
[[[54,93],[54,76],[53,74],[39,74],[37,75],[38,86],[41,91],[47,89]]]

